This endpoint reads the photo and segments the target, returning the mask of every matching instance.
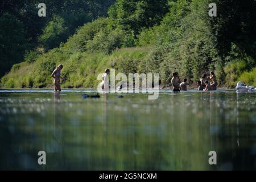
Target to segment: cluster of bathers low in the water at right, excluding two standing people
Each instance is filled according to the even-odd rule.
[[[174,92],[180,92],[180,90],[187,91],[187,78],[184,78],[183,82],[180,81],[179,73],[175,72],[172,74],[172,90]],[[209,81],[210,80],[210,83]],[[211,91],[211,90],[217,90],[217,79],[214,75],[214,72],[210,72],[209,76],[207,76],[207,73],[204,73],[204,75],[200,78],[199,81],[196,82],[197,89],[200,91]]]

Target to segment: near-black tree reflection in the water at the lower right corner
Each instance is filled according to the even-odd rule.
[[[246,97],[245,94],[237,94],[234,100],[234,97],[230,98],[224,94],[220,98],[220,108],[223,112],[218,117],[220,130],[216,134],[218,169],[255,169],[255,137],[251,135],[255,125],[251,123],[251,113],[247,110],[250,100],[243,102]],[[255,110],[255,107],[253,109]]]

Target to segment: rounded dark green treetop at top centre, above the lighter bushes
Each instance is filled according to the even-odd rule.
[[[109,16],[123,30],[138,35],[143,27],[159,24],[167,12],[167,0],[118,0],[110,7]]]

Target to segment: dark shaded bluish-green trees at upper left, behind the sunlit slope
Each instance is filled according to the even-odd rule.
[[[38,5],[42,2],[46,4],[46,17],[38,16]],[[113,3],[114,0],[2,0],[0,77],[10,71],[14,63],[26,59],[30,52],[40,54],[58,47],[84,23],[106,16]],[[10,46],[12,48],[7,50]]]

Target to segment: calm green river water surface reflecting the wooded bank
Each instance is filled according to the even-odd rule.
[[[0,169],[256,169],[256,93],[83,92],[0,90]]]

